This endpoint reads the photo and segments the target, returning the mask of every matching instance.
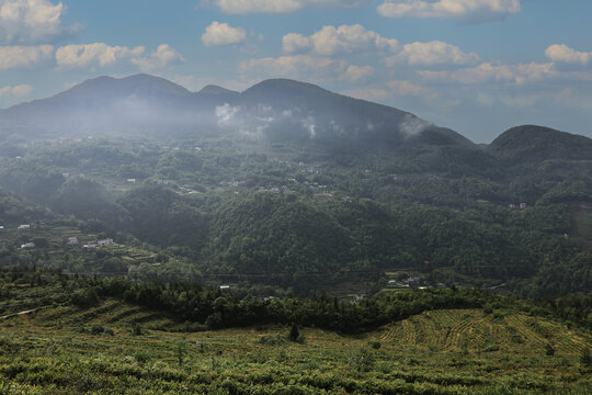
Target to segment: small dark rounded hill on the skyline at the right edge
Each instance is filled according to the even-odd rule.
[[[523,125],[502,133],[487,150],[514,162],[592,160],[592,139],[549,127]]]

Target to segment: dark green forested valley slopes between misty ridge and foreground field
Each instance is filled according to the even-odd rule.
[[[0,255],[4,267],[191,275],[303,293],[352,282],[374,292],[392,279],[385,273],[433,287],[502,284],[528,296],[589,292],[589,144],[535,126],[486,148],[368,151],[225,137],[4,142]],[[561,149],[547,155],[548,145]],[[9,156],[15,150],[19,159]],[[33,236],[10,232],[23,223],[37,224],[34,249],[21,248]],[[59,226],[153,257],[137,262],[41,240]]]

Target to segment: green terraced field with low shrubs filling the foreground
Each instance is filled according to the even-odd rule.
[[[305,328],[301,342],[286,327],[180,325],[115,300],[2,317],[0,394],[592,392],[590,335],[503,309],[425,312],[353,337]]]

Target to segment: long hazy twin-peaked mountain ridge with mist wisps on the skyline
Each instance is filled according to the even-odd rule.
[[[287,79],[262,81],[239,93],[216,86],[190,92],[148,75],[99,77],[53,98],[0,111],[0,139],[223,133],[338,147],[474,146],[458,133],[411,113]]]

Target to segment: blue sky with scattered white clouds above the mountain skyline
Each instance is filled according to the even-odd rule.
[[[303,80],[476,143],[527,123],[592,137],[592,1],[0,0],[0,108],[138,72]]]

